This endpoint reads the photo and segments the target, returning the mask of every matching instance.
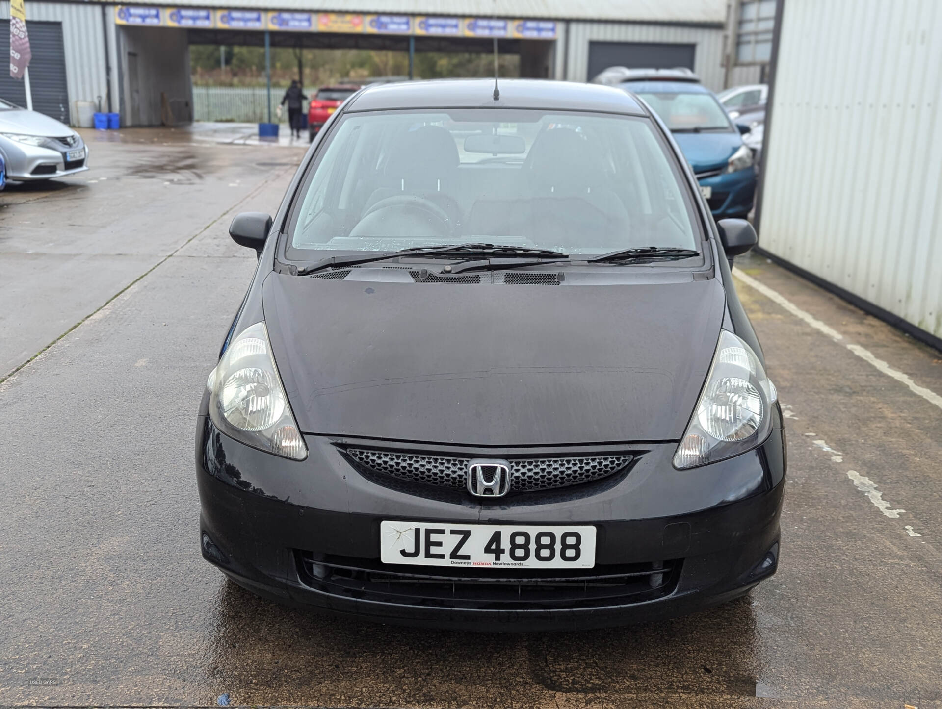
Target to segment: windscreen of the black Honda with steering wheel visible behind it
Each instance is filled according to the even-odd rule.
[[[697,249],[651,121],[510,109],[349,114],[300,189],[293,250],[487,242],[603,253]]]

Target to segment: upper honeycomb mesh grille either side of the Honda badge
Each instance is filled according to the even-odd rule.
[[[392,453],[366,448],[347,448],[347,455],[368,473],[392,475],[403,480],[455,490],[465,490],[468,458]],[[632,456],[587,456],[581,458],[508,459],[511,491],[565,488],[608,477],[623,470]]]

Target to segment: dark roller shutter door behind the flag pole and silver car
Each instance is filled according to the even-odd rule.
[[[30,22],[27,18],[26,31],[29,32],[29,46],[33,51],[32,61],[29,62],[33,110],[68,125],[69,89],[65,78],[62,24]],[[9,20],[0,20],[0,56],[9,56]],[[26,105],[24,83],[10,77],[6,61],[0,72],[0,97],[17,105]]]

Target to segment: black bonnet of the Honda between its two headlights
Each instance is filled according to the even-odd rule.
[[[272,273],[262,303],[304,433],[511,446],[679,439],[724,294]]]

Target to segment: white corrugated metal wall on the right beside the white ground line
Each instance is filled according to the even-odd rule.
[[[942,337],[942,3],[786,0],[760,246]]]

